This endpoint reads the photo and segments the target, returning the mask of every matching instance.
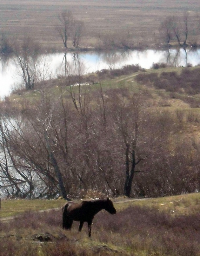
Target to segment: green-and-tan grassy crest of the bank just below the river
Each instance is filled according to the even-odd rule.
[[[106,75],[102,74],[101,86],[103,90],[108,91],[115,88],[125,88],[129,93],[134,93],[137,91],[138,86],[142,85],[142,88],[146,90],[148,100],[151,101],[151,108],[160,107],[172,111],[184,109],[185,111],[199,112],[200,93],[191,87],[191,84],[195,83],[198,90],[199,67],[167,67],[158,70],[149,69],[145,72],[136,70],[134,73],[123,76],[120,75],[120,72],[118,74],[118,72],[119,71],[113,70],[112,75],[109,75],[109,71]],[[178,81],[175,80],[173,76],[176,76]],[[191,80],[187,81],[186,78],[191,78]],[[90,91],[99,90],[99,80],[96,74],[85,76],[85,78],[81,79],[84,81],[90,81],[92,79],[95,82],[94,85],[88,85],[86,87]],[[43,88],[45,88],[45,91],[48,91],[49,94],[54,94],[55,97],[58,97],[60,93],[64,93],[65,97],[68,98],[69,88],[65,86],[66,84],[68,84],[68,81],[67,79],[65,80],[65,78],[54,79],[53,81],[47,81],[44,85],[35,85],[36,90],[34,92],[20,91],[19,93],[11,95],[7,100],[16,105],[20,105],[20,102],[23,100],[34,103],[41,96],[38,90]],[[82,91],[84,91],[85,87],[82,86],[82,88]],[[78,92],[78,90],[78,87],[73,88],[74,92]]]

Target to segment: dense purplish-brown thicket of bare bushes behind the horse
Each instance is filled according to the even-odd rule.
[[[148,77],[153,79],[153,75]],[[185,125],[199,125],[198,113],[152,110],[151,94],[141,88],[134,94],[127,88],[90,89],[74,87],[71,95],[65,92],[56,99],[47,93],[34,107],[22,101],[23,122],[17,113],[12,113],[9,124],[8,115],[1,117],[2,147],[8,146],[14,160],[12,168],[6,165],[8,155],[7,162],[1,163],[4,184],[11,184],[4,189],[8,196],[58,196],[50,149],[70,197],[81,197],[82,191],[89,190],[124,194],[133,156],[132,196],[200,191],[200,144],[183,135]],[[5,104],[10,115],[16,111],[9,101]],[[13,122],[13,130],[8,129]],[[13,166],[18,179],[20,172],[21,180],[26,177],[25,185],[16,186],[15,179],[12,183],[6,170],[14,176]]]

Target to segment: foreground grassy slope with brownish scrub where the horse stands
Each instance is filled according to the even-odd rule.
[[[51,207],[57,207],[60,201],[52,200]],[[62,230],[60,209],[36,212],[36,205],[46,208],[44,200],[3,200],[2,214],[8,206],[12,208],[6,210],[7,216],[16,214],[22,205],[29,210],[1,222],[0,255],[199,255],[199,193],[113,201],[116,215],[104,211],[97,214],[89,239],[86,224],[81,233],[76,222],[70,232]]]

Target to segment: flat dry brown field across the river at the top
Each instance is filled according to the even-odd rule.
[[[76,19],[85,22],[86,37],[82,45],[94,46],[98,44],[100,34],[111,31],[119,34],[123,30],[134,36],[134,45],[142,46],[155,43],[158,28],[167,15],[182,15],[187,10],[194,20],[199,7],[198,0],[4,0],[0,2],[0,27],[9,35],[20,38],[31,34],[46,48],[61,49],[62,42],[55,25],[58,15],[67,9],[74,13]]]

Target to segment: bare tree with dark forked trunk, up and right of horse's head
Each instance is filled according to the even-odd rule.
[[[115,124],[121,136],[122,145],[124,144],[125,153],[125,184],[124,195],[130,197],[133,178],[136,172],[136,166],[146,158],[141,153],[141,142],[145,141],[142,135],[142,122],[144,121],[144,107],[142,106],[142,92],[132,95],[129,103],[121,95],[115,98],[114,104]]]

